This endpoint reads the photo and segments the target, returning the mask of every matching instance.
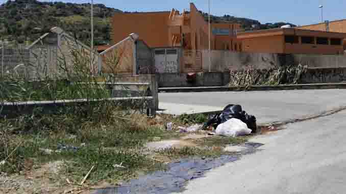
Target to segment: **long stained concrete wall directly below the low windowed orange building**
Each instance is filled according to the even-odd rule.
[[[202,70],[209,71],[209,51],[202,52]],[[212,50],[211,71],[241,70],[252,66],[254,69],[270,69],[283,65],[307,65],[309,68],[346,67],[346,55],[250,53]]]

